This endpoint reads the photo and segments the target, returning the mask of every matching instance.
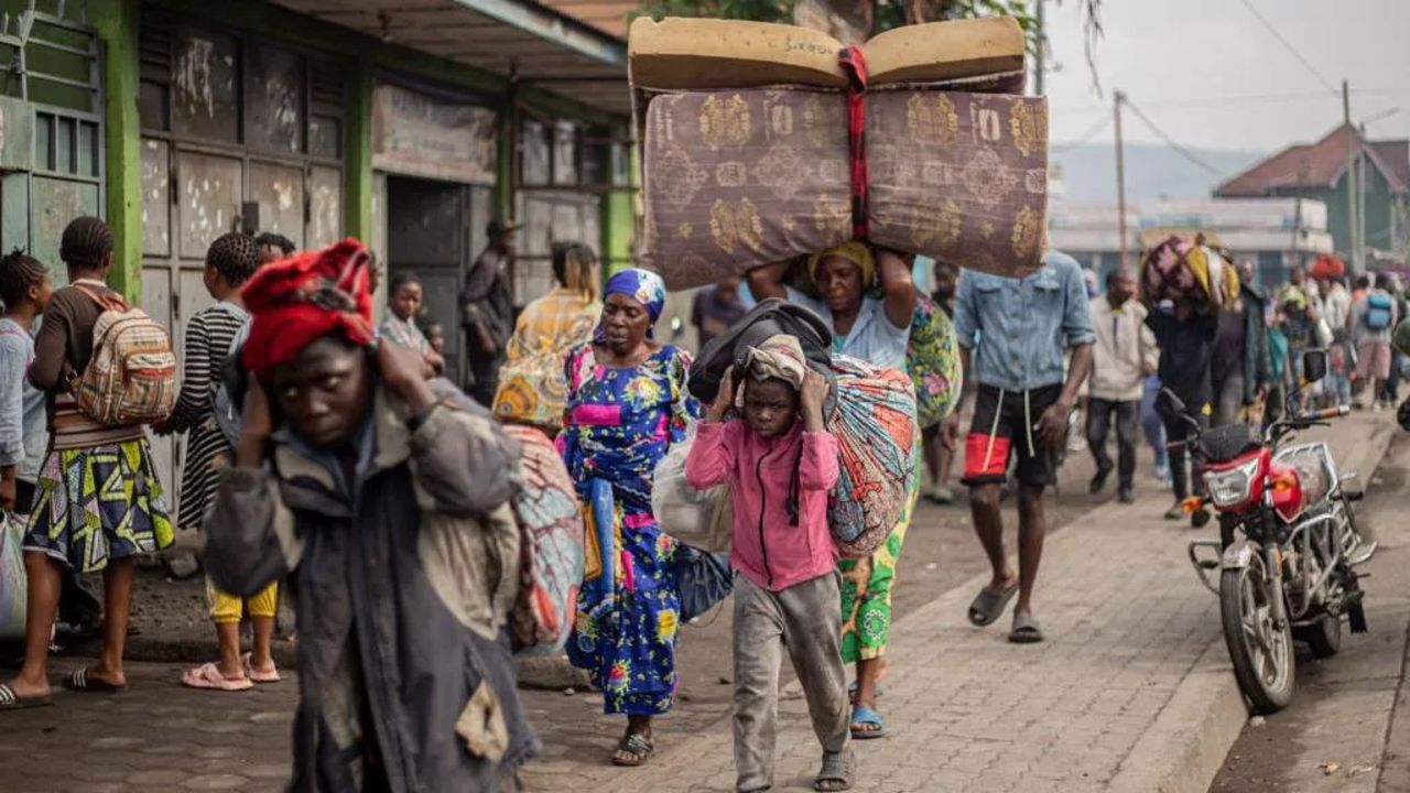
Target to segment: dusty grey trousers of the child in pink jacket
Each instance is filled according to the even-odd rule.
[[[784,648],[825,752],[847,748],[847,679],[842,667],[840,576],[829,573],[771,593],[735,579],[736,790],[774,783],[778,669]]]

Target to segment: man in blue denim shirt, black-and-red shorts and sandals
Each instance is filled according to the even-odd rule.
[[[1008,639],[1041,642],[1031,600],[1048,531],[1043,490],[1056,483],[1052,450],[1066,442],[1067,413],[1091,371],[1096,340],[1081,267],[1067,254],[1049,251],[1043,267],[1026,278],[964,272],[955,332],[966,377],[979,384],[974,423],[964,442],[964,484],[974,531],[994,569],[969,618],[977,626],[991,625],[1017,593]],[[998,509],[1011,454],[1018,456],[1018,574],[1008,566]]]

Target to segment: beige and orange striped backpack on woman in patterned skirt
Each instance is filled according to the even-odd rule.
[[[93,325],[93,357],[69,387],[93,420],[124,426],[166,420],[176,406],[176,354],[171,336],[147,312],[113,292],[79,289],[102,309]]]

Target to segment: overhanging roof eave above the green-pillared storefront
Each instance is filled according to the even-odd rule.
[[[279,6],[626,116],[626,42],[533,0],[275,0]]]

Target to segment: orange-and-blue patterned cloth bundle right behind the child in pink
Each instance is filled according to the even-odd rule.
[[[916,477],[915,392],[904,373],[847,356],[833,356],[829,373],[840,471],[828,525],[842,556],[860,559],[895,528]]]

